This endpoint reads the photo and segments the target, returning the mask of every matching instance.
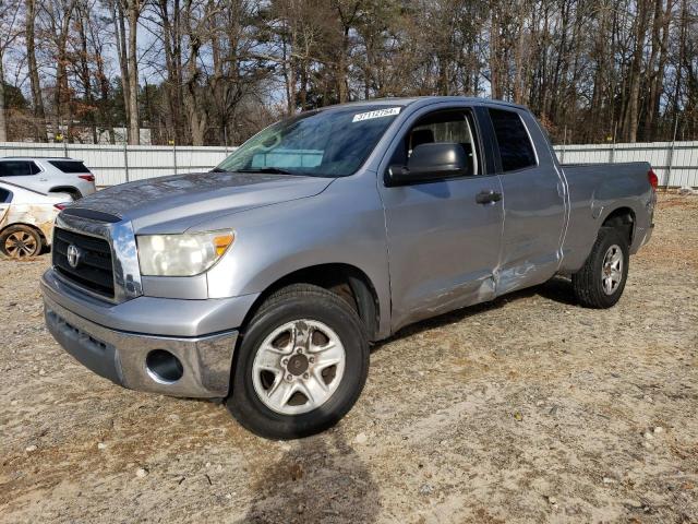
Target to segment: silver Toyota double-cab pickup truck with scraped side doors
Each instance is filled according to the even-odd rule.
[[[462,97],[308,111],[210,172],[60,213],[46,323],[125,388],[225,397],[257,434],[332,426],[370,344],[550,279],[609,308],[652,231],[646,163],[561,166],[526,108]]]

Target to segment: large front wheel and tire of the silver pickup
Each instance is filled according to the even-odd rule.
[[[261,437],[308,437],[349,412],[368,373],[369,341],[356,311],[322,287],[294,284],[266,299],[241,335],[226,405]]]

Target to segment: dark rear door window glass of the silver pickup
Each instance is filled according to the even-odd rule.
[[[521,117],[517,112],[490,109],[490,118],[497,138],[502,170],[514,171],[535,165],[535,153]]]

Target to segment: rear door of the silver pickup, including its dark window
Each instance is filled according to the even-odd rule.
[[[530,112],[489,107],[504,192],[497,295],[533,286],[555,274],[562,260],[565,186],[551,147]]]

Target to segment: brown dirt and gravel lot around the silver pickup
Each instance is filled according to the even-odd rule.
[[[615,308],[557,279],[410,326],[289,443],[77,365],[48,264],[0,261],[0,522],[698,522],[696,196],[661,198]]]

